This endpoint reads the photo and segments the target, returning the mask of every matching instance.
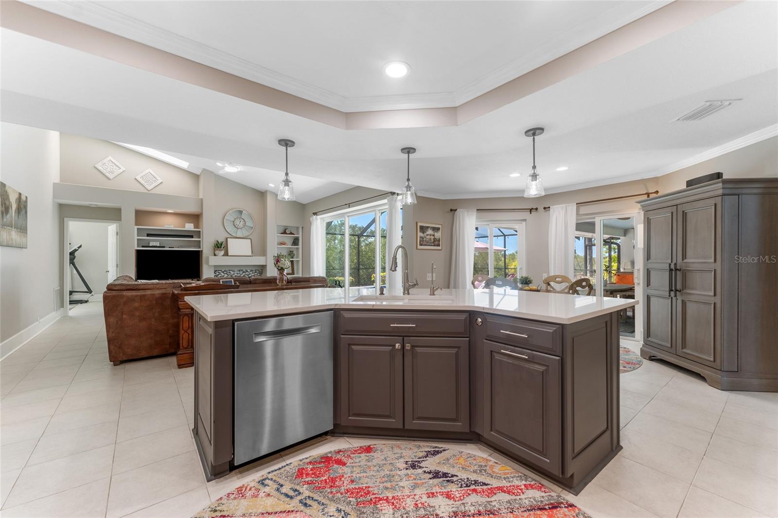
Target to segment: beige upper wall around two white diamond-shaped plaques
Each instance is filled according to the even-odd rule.
[[[169,163],[153,159],[142,153],[96,138],[79,135],[60,134],[60,178],[68,184],[94,185],[127,191],[149,192],[135,177],[151,168],[162,178],[162,183],[151,191],[156,194],[176,194],[178,196],[198,195],[198,175],[187,170],[171,166]],[[122,166],[124,172],[109,180],[96,169],[95,164],[112,156]]]

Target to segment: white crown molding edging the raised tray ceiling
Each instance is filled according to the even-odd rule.
[[[47,0],[33,2],[21,0],[24,3],[40,9],[46,9],[59,16],[86,23],[86,25],[106,30],[110,33],[126,37],[130,40],[156,47],[161,51],[176,54],[213,68],[238,75],[244,79],[258,82],[262,85],[279,89],[282,92],[299,96],[303,99],[320,103],[326,107],[344,112],[386,111],[386,110],[416,110],[424,108],[447,108],[474,99],[504,83],[530,72],[534,68],[545,65],[560,56],[574,51],[576,48],[590,43],[605,34],[619,29],[654,12],[672,0],[654,0],[648,5],[635,9],[632,2],[615,4],[605,16],[599,16],[596,30],[592,30],[592,20],[582,20],[573,30],[568,31],[536,47],[531,55],[506,63],[489,72],[480,79],[457,89],[454,92],[419,93],[395,96],[345,97],[322,89],[308,82],[294,79],[289,75],[275,72],[270,68],[238,58],[233,54],[219,51],[196,40],[180,36],[168,30],[161,29],[150,23],[145,23],[132,16],[110,8],[110,2],[97,3],[93,0]]]

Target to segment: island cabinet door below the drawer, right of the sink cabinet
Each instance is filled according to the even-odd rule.
[[[484,436],[561,474],[561,359],[484,341]]]

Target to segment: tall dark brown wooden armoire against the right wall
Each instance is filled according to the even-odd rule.
[[[640,205],[643,357],[724,390],[778,390],[778,180],[716,180]]]

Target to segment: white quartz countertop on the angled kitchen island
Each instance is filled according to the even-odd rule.
[[[373,289],[310,288],[268,292],[235,292],[196,295],[185,298],[205,320],[233,320],[272,317],[308,311],[348,308],[359,310],[448,310],[482,311],[573,324],[580,320],[636,306],[633,299],[614,299],[546,292],[522,292],[506,288],[444,289],[436,296],[425,296],[426,289],[414,289],[415,298],[396,296],[380,299]],[[377,300],[355,299],[373,296]]]

